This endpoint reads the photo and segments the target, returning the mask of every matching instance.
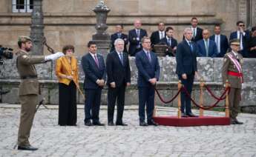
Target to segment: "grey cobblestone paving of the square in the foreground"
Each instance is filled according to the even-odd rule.
[[[57,125],[58,110],[40,108],[30,143],[39,150],[13,150],[19,125],[19,105],[0,104],[0,156],[256,156],[256,115],[240,114],[243,125],[202,127],[140,127],[137,106],[125,107],[128,127],[87,127],[78,106],[76,127]],[[176,115],[173,107],[158,107],[158,115]],[[198,113],[198,110],[194,110]],[[207,111],[206,115],[224,116]],[[102,106],[100,120],[107,121]]]

